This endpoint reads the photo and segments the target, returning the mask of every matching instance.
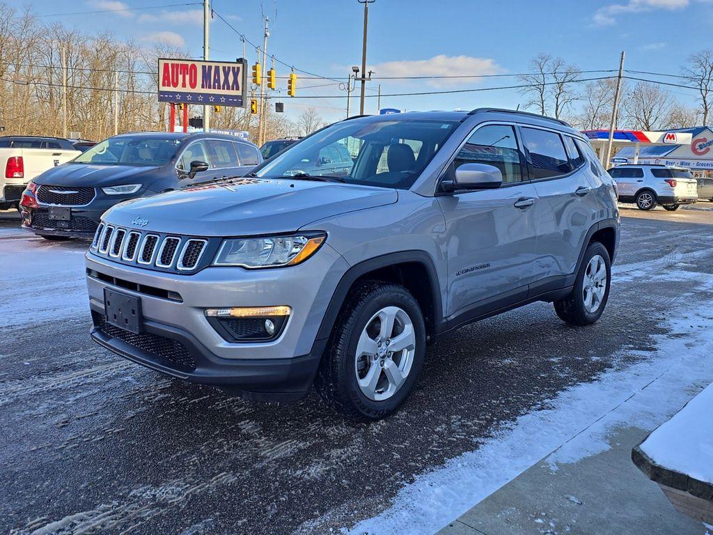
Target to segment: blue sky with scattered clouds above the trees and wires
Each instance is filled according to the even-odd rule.
[[[190,0],[187,0],[190,1]],[[173,4],[175,0],[35,0],[38,14],[61,14]],[[10,1],[21,7],[21,2]],[[362,7],[356,0],[214,0],[212,7],[253,42],[262,42],[262,14],[270,16],[268,52],[306,71],[346,78],[361,63]],[[713,0],[376,0],[370,7],[368,65],[374,76],[422,74],[520,73],[540,52],[561,56],[581,69],[616,68],[620,51],[626,67],[641,71],[680,73],[685,58],[709,45],[713,29]],[[202,6],[124,11],[46,18],[83,31],[111,31],[140,43],[164,39],[202,55]],[[229,60],[242,55],[240,38],[220,19],[211,25],[211,58]],[[255,61],[248,46],[247,58]],[[277,66],[278,75],[288,69]],[[299,73],[298,73],[299,74]],[[327,120],[344,115],[345,93],[336,85],[299,75],[300,96],[337,95],[342,98],[289,99],[289,116],[315,106]],[[589,75],[597,76],[597,75]],[[665,78],[664,78],[665,79]],[[670,80],[670,79],[669,79]],[[282,81],[284,84],[285,82]],[[508,86],[516,78],[458,81],[372,81],[367,94],[438,91]],[[694,91],[671,88],[674,96],[692,105]],[[283,91],[284,94],[284,91]],[[358,93],[357,93],[358,94]],[[525,97],[514,90],[455,95],[384,97],[382,107],[407,110],[512,107]],[[352,99],[352,110],[358,108]],[[366,101],[376,111],[376,98]]]

